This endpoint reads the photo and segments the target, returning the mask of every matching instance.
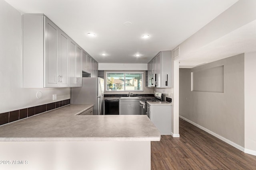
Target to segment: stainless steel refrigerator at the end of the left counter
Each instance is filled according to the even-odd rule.
[[[71,88],[71,104],[94,104],[94,115],[103,115],[103,102],[103,78],[83,77],[82,87]]]

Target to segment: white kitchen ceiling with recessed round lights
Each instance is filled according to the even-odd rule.
[[[45,14],[98,63],[148,63],[237,1],[6,0],[22,13]],[[90,32],[96,36],[88,36]],[[150,37],[143,39],[145,34]]]

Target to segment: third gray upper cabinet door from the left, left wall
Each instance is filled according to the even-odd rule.
[[[76,43],[69,41],[69,86],[76,86]]]

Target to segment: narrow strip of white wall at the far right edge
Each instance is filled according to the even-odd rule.
[[[256,52],[244,54],[244,148],[256,155]]]

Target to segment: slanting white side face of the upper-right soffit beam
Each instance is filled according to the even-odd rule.
[[[198,52],[201,47],[256,20],[255,6],[255,0],[239,0],[236,2],[233,6],[180,44],[179,60],[186,61],[186,59],[193,56],[193,53]],[[223,58],[225,57],[226,56]]]

